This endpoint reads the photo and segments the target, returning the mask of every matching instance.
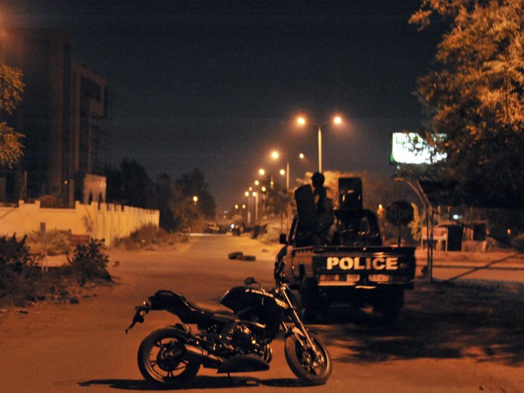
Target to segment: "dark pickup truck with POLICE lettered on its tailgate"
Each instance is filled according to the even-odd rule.
[[[343,195],[347,190],[341,191],[340,183],[339,195]],[[358,196],[356,188],[350,197]],[[314,320],[330,304],[350,303],[354,307],[372,305],[385,321],[395,321],[404,290],[413,288],[415,248],[383,246],[375,214],[363,210],[361,202],[348,203],[347,193],[341,198],[341,209],[334,212],[332,239],[327,243],[312,240],[316,224],[311,225],[314,208],[309,193],[311,189],[300,188],[295,193],[299,214],[289,235],[280,235],[285,246],[275,265],[276,274],[299,295],[304,319]],[[304,224],[308,218],[309,223]]]

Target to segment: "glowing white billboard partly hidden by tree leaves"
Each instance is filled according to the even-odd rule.
[[[438,136],[445,138],[444,134]],[[389,161],[394,164],[430,164],[446,158],[428,146],[426,141],[416,133],[392,133],[391,155]]]

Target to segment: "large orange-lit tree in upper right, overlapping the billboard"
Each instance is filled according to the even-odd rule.
[[[423,0],[410,23],[423,29],[435,16],[450,23],[449,31],[416,95],[429,114],[421,134],[447,156],[438,173],[457,184],[467,204],[521,206],[524,3]]]

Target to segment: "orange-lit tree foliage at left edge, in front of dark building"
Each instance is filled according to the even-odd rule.
[[[24,93],[22,72],[0,61],[0,165],[12,168],[23,156],[20,139],[23,134],[15,131],[5,121],[15,113]]]

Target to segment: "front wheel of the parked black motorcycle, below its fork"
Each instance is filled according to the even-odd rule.
[[[301,343],[294,334],[291,334],[286,338],[286,361],[293,374],[303,383],[322,385],[326,383],[331,374],[331,356],[319,336],[311,332],[309,336],[316,347],[318,356],[309,348],[305,337],[302,337]]]

